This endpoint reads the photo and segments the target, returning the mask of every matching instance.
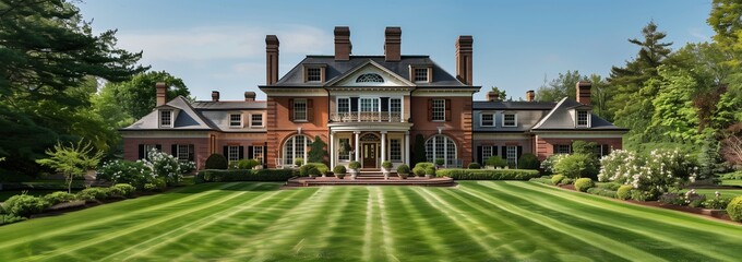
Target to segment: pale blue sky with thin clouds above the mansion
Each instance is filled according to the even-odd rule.
[[[180,78],[196,99],[223,100],[246,91],[265,95],[265,35],[277,35],[279,75],[307,55],[334,55],[333,29],[350,27],[354,55],[383,55],[384,28],[402,27],[402,53],[428,55],[455,75],[455,40],[474,37],[474,84],[483,99],[499,86],[525,97],[567,70],[608,76],[638,49],[654,21],[673,49],[710,41],[710,0],[511,1],[193,1],[87,0],[83,17],[100,33],[118,29],[117,46],[144,51],[142,64]]]

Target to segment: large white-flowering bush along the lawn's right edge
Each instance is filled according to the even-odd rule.
[[[693,182],[698,172],[697,164],[678,150],[655,150],[646,156],[613,151],[601,158],[600,164],[600,181],[631,184],[636,189],[635,193],[642,194],[637,196],[645,200],[657,200],[670,188]]]

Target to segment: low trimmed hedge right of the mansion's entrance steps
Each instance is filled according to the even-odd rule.
[[[446,168],[436,171],[438,177],[456,180],[528,180],[539,177],[538,170],[526,169],[459,169]]]

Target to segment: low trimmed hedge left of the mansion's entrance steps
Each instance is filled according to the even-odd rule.
[[[196,175],[199,182],[228,181],[286,181],[298,176],[294,169],[243,169],[243,170],[201,170]]]

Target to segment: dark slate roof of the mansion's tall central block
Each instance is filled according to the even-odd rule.
[[[347,61],[335,60],[334,56],[307,56],[301,62],[299,62],[294,69],[291,69],[286,75],[284,75],[278,82],[273,85],[274,87],[322,87],[325,83],[333,82],[337,78],[343,78],[347,75],[349,71],[358,69],[363,64],[373,61],[378,67],[386,69],[402,79],[409,80],[409,67],[410,66],[422,66],[431,67],[433,72],[433,79],[430,83],[415,83],[419,87],[435,87],[435,86],[462,86],[469,87],[460,81],[456,80],[448,72],[439,67],[433,60],[428,56],[402,56],[398,62],[387,62],[384,56],[350,56]],[[325,83],[320,82],[304,82],[303,76],[303,66],[325,66]]]

